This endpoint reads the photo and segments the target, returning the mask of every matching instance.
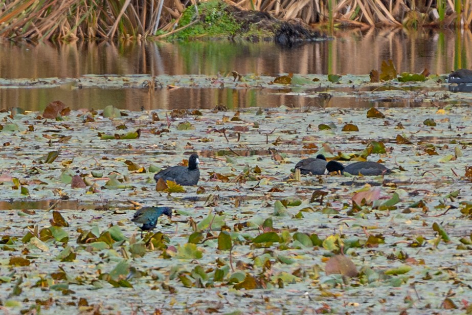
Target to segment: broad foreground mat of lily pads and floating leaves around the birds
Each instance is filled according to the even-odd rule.
[[[0,113],[0,129],[0,305],[11,313],[472,311],[469,105],[53,102]],[[155,172],[192,152],[197,186],[156,187]],[[395,173],[292,171],[318,153]],[[140,206],[172,218],[141,237]]]

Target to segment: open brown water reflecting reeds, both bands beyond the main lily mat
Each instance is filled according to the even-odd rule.
[[[240,74],[368,74],[380,69],[383,60],[392,59],[398,72],[433,74],[469,68],[472,60],[469,31],[422,29],[347,30],[334,34],[334,39],[307,43],[287,50],[273,43],[191,42],[191,43],[84,43],[53,45],[0,41],[0,77],[65,78],[86,74],[148,74],[215,76],[237,71]],[[457,53],[460,52],[460,53]],[[159,89],[148,93],[143,89],[63,87],[2,88],[0,109],[23,107],[42,110],[48,103],[61,100],[72,109],[107,105],[131,110],[154,108],[212,108],[224,104],[229,108],[251,106],[323,106],[366,107],[371,101],[354,98],[318,100],[274,94],[255,89]],[[375,102],[374,102],[375,105]],[[387,106],[415,106],[406,101]]]

